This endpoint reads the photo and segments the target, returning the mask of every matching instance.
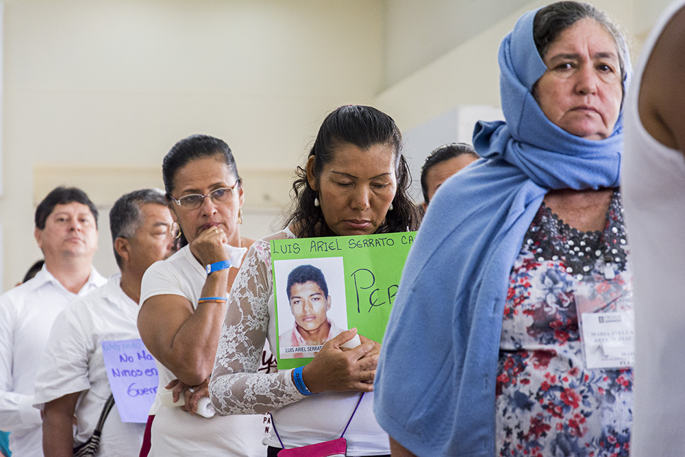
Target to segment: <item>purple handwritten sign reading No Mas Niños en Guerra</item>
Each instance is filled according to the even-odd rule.
[[[107,378],[122,422],[146,423],[160,375],[142,340],[102,341]]]

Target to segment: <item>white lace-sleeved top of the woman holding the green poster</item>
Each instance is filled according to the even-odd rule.
[[[286,449],[340,438],[359,398],[355,392],[324,392],[305,397],[292,382],[292,370],[255,373],[265,338],[275,347],[271,240],[295,238],[290,230],[266,236],[252,245],[236,277],[226,323],[216,351],[210,384],[214,408],[225,414],[273,410],[273,425]],[[347,432],[347,454],[390,454],[388,434],[373,414],[373,392],[364,394]],[[282,447],[271,434],[266,444]]]

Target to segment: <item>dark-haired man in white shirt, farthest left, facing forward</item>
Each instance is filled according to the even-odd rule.
[[[0,429],[16,457],[42,456],[34,379],[55,318],[76,297],[105,283],[92,267],[97,209],[83,190],[58,187],[36,208],[45,265],[34,279],[0,295]]]

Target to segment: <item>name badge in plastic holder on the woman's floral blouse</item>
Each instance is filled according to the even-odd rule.
[[[584,277],[576,286],[575,304],[585,366],[627,368],[635,363],[635,312],[632,275],[612,269],[604,275]]]

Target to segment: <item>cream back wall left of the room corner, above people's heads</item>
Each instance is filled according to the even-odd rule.
[[[271,181],[271,203],[246,177],[253,203],[279,212],[325,114],[381,88],[382,12],[380,0],[6,1],[4,288],[40,258],[36,166],[51,183],[95,180],[84,190],[104,207],[133,190],[130,173],[151,175],[176,140],[207,133],[241,173],[285,177]]]

